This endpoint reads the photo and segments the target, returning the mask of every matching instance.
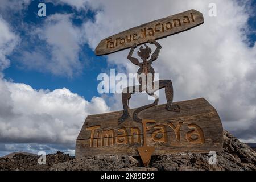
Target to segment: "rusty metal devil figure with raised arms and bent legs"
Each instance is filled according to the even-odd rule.
[[[148,104],[146,106],[139,107],[137,110],[135,110],[133,113],[133,119],[135,121],[137,121],[137,122],[142,121],[142,119],[138,118],[139,112],[158,104],[159,98],[154,94],[154,92],[156,90],[160,90],[162,88],[165,88],[165,94],[166,94],[166,100],[167,100],[166,109],[168,111],[174,111],[174,112],[180,111],[179,105],[172,104],[173,95],[174,95],[173,88],[172,88],[172,81],[171,80],[159,80],[157,83],[154,82],[155,71],[154,71],[154,68],[151,67],[151,64],[153,63],[153,61],[155,61],[158,58],[160,49],[162,47],[155,40],[149,40],[148,42],[151,44],[155,44],[155,46],[156,46],[156,50],[152,54],[150,60],[148,60],[148,58],[151,55],[151,48],[148,47],[146,44],[144,45],[146,48],[143,49],[143,46],[141,46],[138,51],[138,56],[141,57],[141,59],[143,60],[142,62],[139,62],[139,60],[137,58],[132,57],[134,49],[137,47],[136,44],[134,44],[134,46],[131,47],[131,50],[127,57],[127,59],[129,59],[131,61],[131,63],[139,66],[139,70],[137,73],[138,73],[138,75],[144,74],[146,76],[146,84],[142,83],[142,79],[141,79],[141,77],[139,77],[138,78],[139,85],[131,86],[130,88],[123,89],[123,93],[122,93],[123,115],[121,118],[118,119],[119,123],[124,122],[127,118],[130,117],[129,100],[131,98],[131,94],[138,93],[138,92],[140,93],[143,91],[146,91],[147,94],[149,94],[150,96],[154,96],[155,101],[152,104]],[[150,80],[148,80],[148,74],[152,75],[151,82],[148,82],[148,81],[150,81]],[[158,84],[158,88],[155,88],[156,84]],[[150,88],[150,89],[148,89],[148,88]]]

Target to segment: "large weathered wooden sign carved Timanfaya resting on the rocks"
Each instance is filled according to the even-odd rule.
[[[154,122],[146,124],[147,144],[155,147],[153,155],[221,151],[223,128],[214,107],[204,98],[176,104],[181,106],[180,113],[167,111],[166,105],[156,105],[139,114],[139,118]],[[96,154],[139,156],[137,148],[143,145],[142,123],[130,117],[118,125],[121,115],[122,111],[88,116],[76,140],[76,158]]]

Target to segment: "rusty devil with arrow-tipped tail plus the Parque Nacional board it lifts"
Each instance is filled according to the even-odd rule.
[[[131,28],[130,30],[121,32],[120,34],[114,35],[102,42],[96,48],[96,55],[112,53],[115,51],[119,51],[121,49],[129,48],[129,44],[132,44],[129,55],[127,59],[131,61],[131,63],[138,65],[138,81],[139,85],[134,85],[129,88],[123,89],[122,92],[122,104],[123,104],[123,114],[118,119],[119,125],[126,121],[130,117],[129,113],[129,100],[131,95],[134,93],[145,92],[153,96],[155,98],[154,103],[148,104],[142,107],[139,107],[133,112],[133,119],[136,122],[142,122],[142,119],[138,117],[138,114],[146,110],[150,107],[153,107],[158,104],[159,98],[156,96],[154,92],[159,89],[165,88],[166,94],[166,109],[168,111],[179,112],[180,106],[177,104],[172,104],[174,91],[172,88],[171,80],[159,80],[154,82],[154,68],[151,64],[158,59],[160,49],[162,48],[155,39],[164,38],[168,35],[176,34],[177,32],[188,30],[189,28],[198,26],[203,23],[203,15],[198,11],[191,10],[186,11],[184,13],[178,14],[174,16],[169,16],[167,18],[159,19],[154,22],[150,22],[147,24],[143,24],[142,26],[138,26],[135,28]],[[105,43],[104,43],[105,42]],[[139,48],[138,56],[141,57],[142,62],[140,62],[137,58],[133,57],[134,49],[138,44],[141,43],[151,43],[155,44],[156,50],[151,55],[151,48],[146,44]],[[105,45],[104,45],[105,44]],[[103,47],[102,47],[103,46]],[[109,52],[108,52],[109,51]],[[150,59],[149,59],[150,58]],[[148,60],[149,59],[149,60]],[[143,123],[143,122],[142,122]],[[155,147],[148,147],[146,141],[146,123],[143,125],[143,147],[138,147],[138,152],[143,160],[143,163],[146,165],[149,163],[152,153],[155,151]],[[149,157],[148,157],[149,156]]]

